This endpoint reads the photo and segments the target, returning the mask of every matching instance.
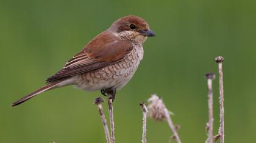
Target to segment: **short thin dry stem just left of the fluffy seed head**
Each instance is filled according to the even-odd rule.
[[[143,126],[142,126],[143,133],[142,133],[142,140],[141,140],[141,142],[142,143],[146,143],[147,142],[147,140],[146,140],[146,125],[147,125],[148,108],[146,107],[146,103],[145,102],[141,102],[140,106],[142,108],[142,113],[143,113],[143,119],[142,119],[142,122],[143,122]]]

